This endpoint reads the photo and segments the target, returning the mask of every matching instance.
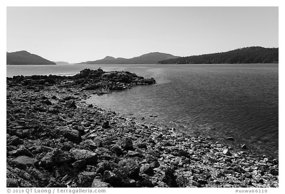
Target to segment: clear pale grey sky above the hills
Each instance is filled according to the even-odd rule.
[[[278,7],[7,7],[7,52],[70,63],[278,47]]]

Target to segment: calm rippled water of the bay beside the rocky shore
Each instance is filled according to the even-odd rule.
[[[7,66],[7,76],[73,75],[97,67],[153,77],[157,84],[94,95],[88,103],[217,141],[234,137],[233,146],[278,155],[278,64]]]

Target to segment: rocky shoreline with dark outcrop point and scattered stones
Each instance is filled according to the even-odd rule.
[[[6,79],[7,187],[278,187],[278,158],[118,116],[85,100],[153,84],[129,72]]]

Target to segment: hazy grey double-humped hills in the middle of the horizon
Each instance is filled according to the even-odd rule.
[[[178,56],[174,56],[171,54],[160,53],[160,52],[151,52],[147,54],[143,54],[139,57],[133,57],[131,59],[125,58],[114,58],[110,56],[106,56],[103,59],[96,61],[87,61],[77,64],[86,64],[86,65],[104,65],[104,64],[156,64],[159,61],[178,58]]]

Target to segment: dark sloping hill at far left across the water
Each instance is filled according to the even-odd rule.
[[[56,65],[39,55],[31,54],[25,50],[6,53],[7,65]]]

